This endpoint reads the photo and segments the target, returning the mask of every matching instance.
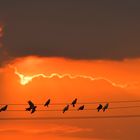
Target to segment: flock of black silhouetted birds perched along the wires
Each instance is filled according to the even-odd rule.
[[[48,99],[45,102],[44,107],[49,107],[50,103],[51,103],[51,99]],[[73,107],[75,107],[76,103],[77,103],[77,98],[74,99],[71,102],[71,104],[66,105],[63,108],[62,112],[65,113],[66,111],[68,111],[70,105],[72,105]],[[29,105],[29,107],[28,108],[25,108],[25,111],[30,111],[31,114],[33,114],[36,111],[37,106],[32,101],[28,101],[28,105]],[[109,107],[109,103],[106,103],[106,105],[104,105],[104,106],[102,104],[99,104],[98,107],[97,107],[97,111],[100,112],[101,110],[103,110],[103,112],[105,112],[108,109],[108,107]],[[2,108],[0,108],[0,112],[6,111],[7,108],[8,108],[8,105],[3,106]],[[85,109],[85,105],[82,105],[77,110],[80,111],[80,110],[84,110],[84,109]]]

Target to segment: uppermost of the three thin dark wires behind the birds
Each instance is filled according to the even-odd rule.
[[[98,101],[98,102],[77,102],[77,104],[99,104],[99,103],[140,103],[140,100],[120,100],[120,101]],[[71,103],[51,103],[50,105],[66,105]],[[5,105],[5,104],[0,104]],[[27,105],[27,104],[7,104],[7,105]],[[44,105],[42,104],[36,104],[36,105]]]

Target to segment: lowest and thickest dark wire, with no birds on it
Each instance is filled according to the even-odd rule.
[[[73,116],[73,117],[32,117],[32,118],[0,118],[2,121],[7,120],[75,120],[75,119],[129,119],[140,118],[140,115],[114,115],[114,116]]]

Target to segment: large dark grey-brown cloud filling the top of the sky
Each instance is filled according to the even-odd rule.
[[[10,57],[140,57],[138,0],[5,0],[0,17]]]

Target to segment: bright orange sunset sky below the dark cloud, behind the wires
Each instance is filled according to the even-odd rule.
[[[14,60],[10,65],[17,68],[18,72],[25,76],[32,76],[35,74],[50,75],[52,73],[71,75],[86,75],[92,77],[104,77],[116,84],[126,84],[127,87],[120,88],[111,85],[105,80],[91,81],[84,78],[69,79],[68,77],[59,79],[57,77],[48,79],[43,77],[34,78],[32,82],[27,85],[21,85],[19,77],[14,73],[14,69],[6,65],[1,68],[0,82],[1,82],[1,103],[23,103],[26,104],[28,100],[33,100],[35,103],[44,103],[48,98],[56,102],[71,102],[75,97],[79,102],[96,102],[96,101],[117,101],[117,100],[138,100],[140,99],[140,59],[124,60],[124,61],[84,61],[84,60],[70,60],[64,58],[38,58],[25,57]],[[115,107],[118,104],[110,104]],[[119,104],[123,106],[126,104]],[[136,103],[130,105],[138,105]],[[26,106],[23,106],[23,110]],[[50,106],[53,109],[63,109],[64,106]],[[77,106],[78,107],[78,106]],[[86,108],[96,108],[97,105],[87,105]],[[43,107],[38,107],[42,109]],[[14,109],[13,106],[9,109]],[[21,106],[16,106],[16,109],[21,109]],[[96,111],[88,112],[67,112],[65,116],[86,116],[86,115],[124,115],[124,114],[138,114],[138,109],[131,110],[109,110],[105,113],[97,113]],[[36,112],[33,117],[39,116],[54,116],[62,117],[61,112]],[[1,116],[7,117],[31,117],[28,112],[5,112]],[[24,121],[2,122],[0,130],[0,138],[5,138],[7,134],[9,137],[22,136],[24,138],[36,139],[92,139],[104,140],[113,139],[113,136],[123,136],[123,132],[130,132],[129,126],[137,130],[140,126],[139,119],[133,120],[84,120],[84,121],[37,121],[24,123]],[[21,124],[19,126],[18,122]],[[49,124],[49,126],[48,126]],[[61,127],[60,127],[61,124]],[[105,130],[105,126],[108,129]],[[125,125],[125,127],[124,127]],[[14,126],[14,127],[13,127]],[[8,129],[7,129],[8,127]],[[49,132],[48,127],[53,132]],[[99,130],[105,130],[100,135]],[[24,130],[24,131],[23,131]],[[50,130],[50,131],[51,131]],[[20,131],[20,132],[19,132]],[[65,131],[65,132],[64,132]],[[113,131],[113,132],[112,132]],[[110,134],[112,133],[112,134]],[[25,135],[26,134],[26,135]],[[35,135],[35,136],[34,136]],[[104,136],[106,135],[106,136]],[[127,135],[122,137],[128,138]]]

